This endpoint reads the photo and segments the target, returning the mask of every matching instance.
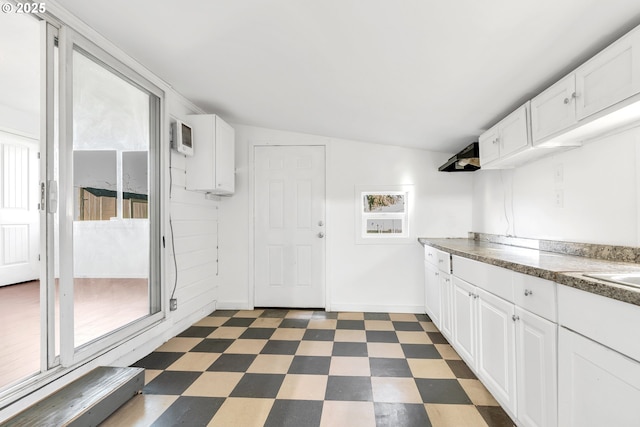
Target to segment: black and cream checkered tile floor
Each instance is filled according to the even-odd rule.
[[[513,426],[425,315],[216,311],[105,426]]]

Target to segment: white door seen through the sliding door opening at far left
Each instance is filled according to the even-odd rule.
[[[0,132],[0,286],[36,280],[39,142]]]

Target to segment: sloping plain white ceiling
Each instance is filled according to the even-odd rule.
[[[59,0],[232,123],[453,152],[640,24],[638,0]]]

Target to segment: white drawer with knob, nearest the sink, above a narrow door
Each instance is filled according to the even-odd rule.
[[[513,298],[516,305],[555,322],[556,284],[539,277],[513,273]]]

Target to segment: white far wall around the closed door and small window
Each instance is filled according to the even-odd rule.
[[[449,154],[234,126],[236,193],[221,205],[219,307],[253,305],[250,221],[251,144],[327,146],[327,294],[332,310],[423,310],[422,247],[417,236],[465,236],[471,227],[472,174],[438,172]],[[414,239],[359,245],[355,188],[414,185]]]

